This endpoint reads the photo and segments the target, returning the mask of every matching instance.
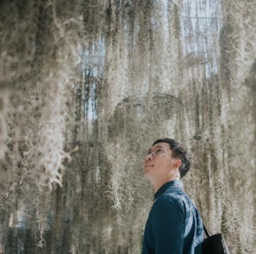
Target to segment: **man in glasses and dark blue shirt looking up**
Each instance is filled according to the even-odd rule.
[[[143,237],[143,254],[201,254],[203,222],[184,192],[187,151],[171,138],[158,139],[143,156],[144,176],[155,190]]]

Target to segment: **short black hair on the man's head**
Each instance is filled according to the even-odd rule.
[[[181,160],[181,167],[179,167],[179,171],[182,178],[190,170],[190,157],[188,156],[187,151],[178,141],[174,141],[174,139],[171,138],[160,138],[155,141],[154,144],[162,142],[168,143],[170,145],[172,157]],[[152,144],[152,146],[154,144]]]

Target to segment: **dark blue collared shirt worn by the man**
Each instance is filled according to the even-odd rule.
[[[180,180],[155,193],[143,237],[142,254],[201,254],[203,221]]]

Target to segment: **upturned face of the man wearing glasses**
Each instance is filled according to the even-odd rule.
[[[169,144],[165,142],[157,143],[149,149],[149,155],[144,159],[144,176],[150,182],[168,181],[171,175],[178,173],[181,164],[171,153]]]

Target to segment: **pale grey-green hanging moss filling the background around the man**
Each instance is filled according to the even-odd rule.
[[[0,249],[139,253],[153,195],[140,154],[171,137],[190,151],[185,189],[211,233],[254,253],[254,12],[2,1]]]

